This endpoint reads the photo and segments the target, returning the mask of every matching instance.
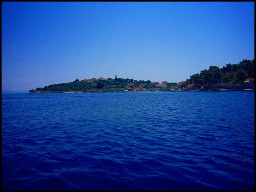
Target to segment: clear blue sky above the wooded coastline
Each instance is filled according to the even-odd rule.
[[[254,2],[2,2],[2,90],[179,83],[254,59]]]

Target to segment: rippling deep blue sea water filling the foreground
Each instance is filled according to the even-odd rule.
[[[254,190],[254,91],[2,94],[2,190]]]

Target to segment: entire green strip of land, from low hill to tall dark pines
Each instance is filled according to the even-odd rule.
[[[58,83],[37,87],[35,90],[29,90],[30,93],[48,93],[48,92],[93,92],[93,91],[124,91],[124,90],[188,90],[198,89],[199,87],[210,88],[211,85],[230,84],[242,86],[248,78],[254,78],[254,59],[243,60],[238,64],[227,64],[223,68],[210,66],[208,70],[202,70],[197,74],[190,76],[189,79],[180,83],[165,83],[165,87],[158,87],[158,82],[150,80],[134,80],[123,78],[98,78],[98,79],[75,79],[69,83]]]

